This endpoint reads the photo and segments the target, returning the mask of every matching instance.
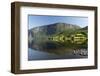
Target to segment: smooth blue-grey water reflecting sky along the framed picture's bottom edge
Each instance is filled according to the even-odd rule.
[[[28,60],[52,60],[52,59],[79,59],[87,58],[88,56],[74,55],[73,53],[66,53],[64,55],[57,55],[54,53],[48,53],[43,51],[37,51],[34,49],[28,49]]]

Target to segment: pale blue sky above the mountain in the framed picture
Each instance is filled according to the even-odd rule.
[[[88,26],[87,17],[29,15],[28,29],[59,22],[76,24],[79,25],[80,27]]]

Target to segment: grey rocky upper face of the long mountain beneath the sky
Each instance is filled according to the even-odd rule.
[[[30,31],[32,31],[34,34],[41,33],[46,35],[54,35],[57,33],[61,33],[65,30],[72,31],[76,29],[81,29],[81,27],[78,25],[67,24],[67,23],[54,23],[54,24],[44,25],[40,27],[35,27],[32,28]]]

